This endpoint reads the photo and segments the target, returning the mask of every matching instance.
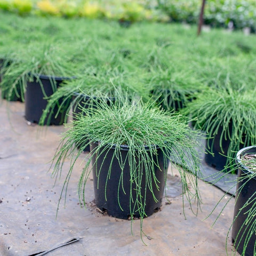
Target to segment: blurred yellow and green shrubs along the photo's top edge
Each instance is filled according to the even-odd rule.
[[[0,9],[25,15],[171,21],[195,24],[201,0],[0,0]],[[204,23],[211,27],[256,31],[256,1],[207,0]]]

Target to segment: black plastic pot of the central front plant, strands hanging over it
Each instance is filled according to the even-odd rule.
[[[93,151],[96,147],[98,147],[98,143],[91,143],[91,151]],[[106,149],[106,147],[105,147]],[[130,187],[130,165],[128,163],[127,154],[129,148],[127,146],[122,146],[120,150],[120,156],[122,159],[126,159],[124,163],[123,169],[123,185],[120,183],[121,177],[121,167],[119,165],[120,159],[116,157],[113,158],[115,146],[111,146],[107,148],[102,154],[99,153],[97,156],[97,163],[95,163],[95,155],[93,155],[92,166],[93,166],[93,185],[94,185],[94,195],[95,195],[95,203],[97,207],[101,211],[107,211],[108,215],[119,219],[130,219],[131,212],[130,209],[134,209],[133,218],[139,218],[140,214],[138,211],[138,205],[134,204],[134,201],[130,202],[130,195],[134,199],[136,197],[137,186],[133,183],[132,188]],[[141,194],[142,197],[145,198],[145,213],[146,216],[150,216],[155,211],[161,207],[164,187],[165,187],[165,177],[167,172],[167,167],[169,165],[169,159],[164,157],[163,151],[157,149],[157,155],[154,155],[154,161],[158,161],[161,169],[158,169],[155,166],[154,170],[151,170],[152,173],[156,175],[156,179],[158,180],[157,185],[159,189],[157,189],[155,183],[153,182],[153,192],[157,199],[157,202],[154,200],[153,195],[148,187],[146,187],[146,175],[145,171],[142,175],[141,181]],[[134,157],[134,161],[139,161],[138,157]],[[111,174],[109,175],[108,170],[111,165]],[[99,170],[101,166],[101,171]],[[143,166],[142,168],[144,168]],[[99,172],[100,171],[100,172]],[[150,175],[148,179],[153,179],[153,174]],[[105,197],[106,196],[106,197]],[[131,204],[131,205],[130,205]],[[121,209],[122,207],[122,209]],[[144,216],[144,217],[146,217]]]

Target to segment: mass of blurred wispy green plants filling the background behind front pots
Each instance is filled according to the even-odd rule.
[[[20,84],[24,91],[29,72],[76,76],[71,87],[80,83],[83,91],[86,86],[95,93],[99,89],[95,85],[101,84],[100,89],[109,94],[113,85],[122,85],[124,91],[132,89],[143,98],[153,92],[170,109],[175,101],[189,101],[205,86],[222,86],[227,79],[234,89],[254,87],[253,36],[213,30],[196,37],[193,27],[167,23],[141,22],[126,29],[115,21],[97,19],[86,20],[84,26],[82,19],[4,12],[1,18],[4,90],[12,84],[17,91]]]

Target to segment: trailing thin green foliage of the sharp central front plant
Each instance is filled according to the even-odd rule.
[[[97,165],[98,158],[102,154],[106,154],[115,145],[114,154],[110,156],[110,159],[106,159],[106,161],[112,163],[116,157],[119,159],[121,170],[123,170],[125,164],[129,163],[131,179],[129,181],[123,180],[121,173],[117,180],[120,180],[119,190],[122,190],[123,182],[129,182],[131,188],[134,184],[136,185],[138,190],[137,196],[130,198],[130,202],[132,202],[130,205],[130,215],[133,217],[135,214],[133,205],[138,205],[139,213],[136,213],[140,216],[141,228],[143,218],[146,217],[144,210],[146,198],[142,196],[143,191],[141,191],[141,188],[149,188],[149,193],[154,194],[153,185],[158,186],[160,182],[155,178],[150,178],[154,177],[154,174],[152,174],[154,168],[152,166],[159,166],[159,163],[153,158],[156,154],[156,148],[163,150],[166,159],[169,159],[171,156],[175,163],[178,162],[180,164],[177,165],[177,168],[181,174],[183,196],[190,203],[196,201],[198,206],[200,199],[195,177],[197,177],[199,172],[200,160],[195,148],[198,143],[199,134],[191,130],[183,122],[182,116],[155,108],[153,103],[143,104],[141,101],[135,100],[134,102],[133,99],[130,101],[127,98],[119,100],[121,100],[121,103],[115,105],[107,105],[105,101],[95,100],[94,103],[97,105],[97,108],[93,110],[84,108],[84,113],[73,124],[70,124],[68,131],[63,134],[53,159],[53,175],[56,178],[61,175],[63,162],[66,157],[71,159],[71,167],[63,185],[62,193],[65,194],[70,175],[74,171],[74,163],[77,161],[78,156],[82,154],[83,149],[90,142],[100,142],[99,146],[91,151],[89,160],[85,163],[85,167],[81,172],[78,182],[78,194],[81,202],[86,202],[84,186],[91,171],[92,159],[96,159],[95,165]],[[74,143],[79,145],[78,152],[74,150]],[[124,145],[128,147],[128,153],[127,158],[122,159],[120,150]],[[162,171],[166,172],[166,170]],[[107,167],[107,170],[100,167],[99,176],[101,172],[109,173],[109,177],[110,175],[117,175],[115,174],[115,168],[112,168],[111,164]],[[148,177],[145,183],[141,179],[142,173]],[[128,192],[126,191],[126,193]],[[106,195],[106,199],[110,200],[111,198]],[[121,205],[122,202],[120,202],[119,206],[121,207]],[[195,210],[195,213],[197,210]]]

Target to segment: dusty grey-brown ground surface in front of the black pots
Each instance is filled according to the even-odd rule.
[[[92,177],[85,190],[87,209],[79,205],[76,188],[81,164],[75,167],[70,180],[66,207],[63,200],[56,210],[62,181],[54,180],[47,172],[58,147],[62,126],[39,127],[24,118],[25,104],[3,101],[0,105],[0,255],[226,255],[226,235],[233,219],[234,198],[231,198],[221,217],[213,224],[226,196],[216,211],[214,205],[223,192],[199,180],[201,211],[195,216],[185,202],[186,219],[182,211],[180,179],[171,176],[167,196],[161,211],[143,221],[145,244],[140,238],[140,221],[120,220],[97,211],[93,204]],[[68,170],[68,161],[64,170]],[[59,247],[77,238],[78,241]],[[50,252],[47,252],[49,251]],[[234,251],[230,237],[227,253]],[[239,255],[238,253],[236,255]]]

